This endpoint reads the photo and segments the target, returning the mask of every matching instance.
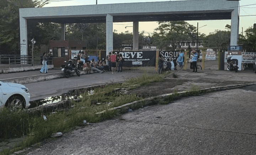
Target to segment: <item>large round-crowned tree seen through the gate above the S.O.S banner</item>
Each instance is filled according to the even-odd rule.
[[[158,22],[159,26],[154,32],[154,44],[159,49],[168,48],[171,44],[171,49],[175,50],[177,41],[196,40],[196,27],[185,21],[167,21]]]

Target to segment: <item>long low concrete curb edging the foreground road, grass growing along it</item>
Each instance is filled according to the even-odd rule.
[[[252,83],[256,84],[256,83]],[[214,91],[221,91],[221,90],[228,90],[228,89],[236,89],[240,87],[244,87],[247,85],[252,85],[250,84],[236,84],[236,85],[226,85],[226,86],[220,86],[220,87],[212,87],[212,88],[205,88],[205,89],[199,89],[199,90],[192,90],[192,91],[183,91],[183,92],[178,92],[178,93],[170,93],[170,94],[164,94],[164,95],[158,95],[138,101],[133,101],[131,103],[127,103],[118,107],[113,107],[108,109],[107,111],[113,111],[117,110],[118,112],[124,113],[127,112],[127,110],[130,109],[137,109],[139,107],[143,107],[146,105],[155,105],[155,103],[159,103],[162,101],[173,101],[176,99],[180,99],[182,97],[187,97],[191,96],[192,94],[198,93],[198,94],[203,94],[203,93],[209,93],[209,92],[214,92]],[[104,114],[106,110],[97,112],[97,115]]]

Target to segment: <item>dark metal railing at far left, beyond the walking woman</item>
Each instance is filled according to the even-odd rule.
[[[48,57],[48,64],[52,64],[52,57]],[[42,65],[42,56],[27,55],[0,55],[0,65],[12,66],[34,66]]]

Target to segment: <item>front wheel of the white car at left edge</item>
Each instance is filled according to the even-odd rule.
[[[25,100],[21,96],[11,96],[7,100],[7,107],[9,109],[22,109],[22,108],[25,108]]]

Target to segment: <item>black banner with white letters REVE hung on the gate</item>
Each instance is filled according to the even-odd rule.
[[[156,51],[120,52],[124,59],[123,66],[155,66]]]

